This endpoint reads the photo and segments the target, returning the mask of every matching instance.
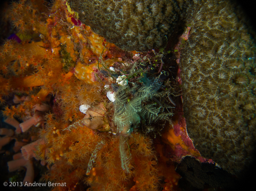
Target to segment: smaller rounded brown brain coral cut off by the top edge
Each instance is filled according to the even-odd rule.
[[[127,51],[159,48],[175,34],[188,1],[69,0],[79,19],[107,41]]]

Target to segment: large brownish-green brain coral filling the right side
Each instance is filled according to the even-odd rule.
[[[256,136],[255,41],[238,7],[203,2],[190,10],[181,57],[187,130],[204,157],[239,174],[252,161]]]

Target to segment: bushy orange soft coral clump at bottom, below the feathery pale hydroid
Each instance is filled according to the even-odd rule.
[[[39,146],[37,154],[54,163],[44,176],[46,180],[66,182],[70,188],[81,180],[92,190],[125,190],[135,181],[136,190],[158,190],[159,172],[150,139],[133,134],[134,138],[127,140],[125,147],[130,153],[126,173],[121,164],[119,145],[123,143],[119,136],[99,134],[79,125],[71,131],[61,130],[62,125],[55,127],[59,135],[53,137],[52,130],[48,130],[44,134],[48,143]]]

